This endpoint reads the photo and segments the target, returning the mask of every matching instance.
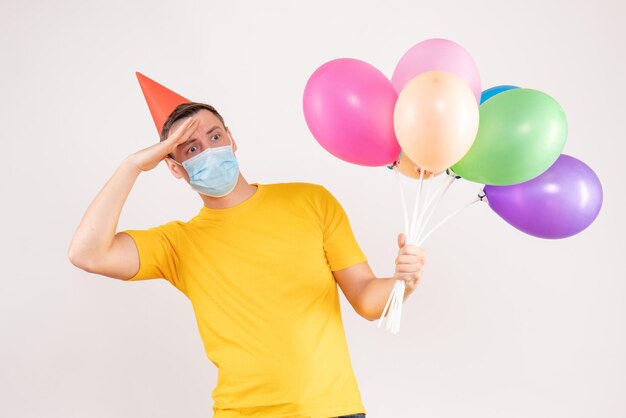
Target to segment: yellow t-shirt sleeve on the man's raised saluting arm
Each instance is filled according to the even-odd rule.
[[[135,241],[139,271],[129,281],[163,278],[180,288],[178,277],[178,225],[176,221],[149,229],[121,231]]]

